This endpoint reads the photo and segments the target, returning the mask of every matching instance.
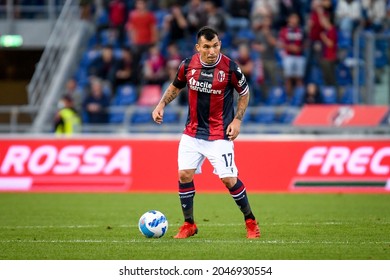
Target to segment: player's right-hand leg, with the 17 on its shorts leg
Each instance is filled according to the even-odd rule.
[[[206,156],[214,167],[222,183],[229,190],[244,216],[248,238],[260,237],[260,230],[253,215],[245,185],[237,177],[238,170],[234,160],[234,144],[232,141],[217,140],[210,142]]]

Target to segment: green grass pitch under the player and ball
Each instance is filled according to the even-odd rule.
[[[228,193],[195,196],[199,233],[176,240],[177,194],[0,194],[2,260],[379,260],[390,259],[390,195],[249,193],[262,237],[247,240]],[[138,231],[156,209],[160,239]]]

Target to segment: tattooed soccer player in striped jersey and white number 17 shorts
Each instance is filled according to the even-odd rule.
[[[176,78],[153,110],[153,120],[163,122],[164,107],[182,88],[188,87],[188,118],[179,143],[179,197],[184,224],[174,238],[198,232],[194,221],[194,175],[201,173],[207,158],[244,215],[247,238],[259,238],[260,229],[252,213],[245,185],[238,179],[234,144],[249,101],[249,88],[237,64],[221,54],[218,33],[202,27],[197,33],[197,53],[183,60]],[[238,93],[234,114],[234,91]]]

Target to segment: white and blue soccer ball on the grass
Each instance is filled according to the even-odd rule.
[[[138,228],[147,238],[160,238],[168,231],[168,220],[160,211],[151,210],[141,216]]]

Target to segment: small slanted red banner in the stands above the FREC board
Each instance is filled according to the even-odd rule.
[[[297,126],[377,126],[388,106],[305,105],[294,120]]]

